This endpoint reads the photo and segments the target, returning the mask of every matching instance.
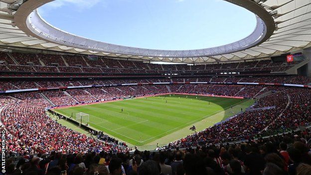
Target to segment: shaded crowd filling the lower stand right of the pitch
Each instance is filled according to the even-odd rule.
[[[304,126],[311,122],[311,90],[290,88],[279,91],[259,99],[252,108],[264,109],[240,113],[202,132],[170,143],[167,148],[247,140],[258,134]]]

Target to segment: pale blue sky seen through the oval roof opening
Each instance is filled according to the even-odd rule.
[[[39,8],[62,30],[151,49],[200,49],[248,36],[255,15],[224,0],[55,0]]]

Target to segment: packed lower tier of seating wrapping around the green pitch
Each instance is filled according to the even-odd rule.
[[[163,86],[165,86],[163,88]],[[286,129],[310,122],[311,90],[304,88],[287,88],[274,86],[225,86],[225,85],[144,85],[131,87],[104,87],[88,89],[71,89],[66,91],[46,91],[15,93],[0,96],[1,121],[11,133],[8,150],[17,153],[31,151],[64,153],[83,151],[126,151],[124,144],[101,143],[85,135],[76,133],[60,126],[45,115],[44,107],[51,106],[43,97],[47,97],[55,105],[110,99],[130,95],[148,95],[169,92],[198,93],[215,95],[243,95],[253,97],[263,89],[279,91],[260,99],[254,108],[276,106],[269,110],[241,113],[229,121],[213,126],[203,132],[196,133],[184,139],[171,143],[167,148],[196,146],[214,142],[244,140],[254,134],[269,130]],[[255,94],[255,95],[254,95]],[[306,98],[308,97],[308,98]],[[274,100],[271,100],[274,99]],[[282,115],[281,113],[284,112]],[[294,117],[297,114],[299,117]],[[307,116],[306,116],[307,115]],[[309,116],[310,117],[310,116]],[[278,125],[277,125],[278,124]],[[64,134],[66,133],[66,134]],[[214,135],[213,133],[219,133]],[[52,136],[53,139],[44,136]],[[72,136],[75,137],[72,137]],[[43,137],[42,137],[43,136]],[[238,137],[243,136],[243,137]],[[16,142],[16,139],[18,142]],[[199,141],[199,142],[198,142]]]

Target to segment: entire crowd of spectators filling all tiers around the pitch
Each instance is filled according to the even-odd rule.
[[[98,60],[90,60],[85,56],[61,56],[61,55],[49,55],[49,54],[22,54],[22,53],[3,53],[0,52],[0,61],[3,61],[1,70],[3,71],[21,71],[21,72],[67,72],[67,73],[107,73],[107,74],[120,74],[120,73],[210,73],[210,72],[223,72],[223,71],[285,71],[296,63],[273,63],[271,60],[263,61],[251,61],[245,63],[223,63],[223,64],[209,64],[209,65],[157,65],[150,63],[142,63],[138,61],[126,61],[126,60],[113,60],[105,57],[99,57]],[[205,77],[205,78],[153,78],[153,79],[112,79],[112,80],[48,80],[48,81],[2,81],[0,84],[0,90],[12,90],[12,89],[29,89],[29,88],[53,88],[60,86],[81,86],[81,85],[105,85],[105,84],[124,84],[124,83],[154,83],[154,82],[212,82],[212,83],[236,83],[236,82],[259,82],[259,83],[291,83],[291,84],[309,84],[311,78],[302,76],[249,76],[249,77]],[[138,153],[136,157],[142,157],[145,164],[142,162],[140,165],[133,164],[126,166],[131,158],[127,152],[127,146],[124,143],[119,143],[117,140],[99,133],[97,135],[98,141],[94,138],[87,137],[86,135],[79,134],[71,129],[61,126],[57,122],[51,120],[46,116],[44,107],[51,106],[49,101],[55,105],[72,104],[77,102],[86,102],[94,100],[110,100],[113,98],[122,98],[127,96],[144,96],[160,93],[195,93],[195,94],[210,94],[210,95],[226,95],[226,96],[243,96],[252,98],[268,91],[282,91],[273,93],[270,96],[262,98],[256,102],[252,107],[264,108],[272,107],[272,109],[262,109],[255,111],[246,111],[232,118],[224,121],[218,125],[207,128],[206,130],[193,135],[182,138],[178,141],[170,143],[165,149],[190,147],[190,146],[202,146],[196,150],[187,149],[185,153],[181,152],[163,152],[159,154],[151,155],[146,152],[144,154]],[[41,93],[41,94],[39,94]],[[45,100],[43,97],[48,100]],[[243,167],[244,172],[252,172],[252,161],[247,160],[245,157],[252,153],[257,153],[260,150],[262,153],[261,159],[263,160],[262,171],[271,171],[277,169],[274,165],[270,164],[276,157],[267,157],[271,154],[271,148],[264,139],[254,141],[252,138],[260,138],[267,133],[275,133],[278,130],[284,131],[285,129],[306,125],[311,122],[311,91],[310,89],[301,88],[285,88],[276,86],[242,86],[242,85],[205,85],[205,84],[169,84],[169,85],[139,85],[139,86],[120,86],[120,87],[102,87],[102,88],[87,88],[87,89],[66,89],[65,91],[41,91],[31,93],[11,94],[10,96],[0,96],[0,109],[1,109],[1,121],[3,123],[2,128],[5,128],[8,132],[6,134],[7,150],[10,152],[16,152],[21,154],[32,153],[50,153],[49,156],[42,155],[40,158],[35,157],[24,159],[25,162],[21,163],[17,169],[22,169],[23,174],[27,174],[27,171],[31,168],[37,167],[42,169],[42,172],[50,173],[51,169],[55,167],[49,167],[49,163],[58,159],[62,160],[62,164],[59,165],[61,170],[66,170],[68,174],[75,175],[73,171],[77,168],[75,165],[80,165],[84,162],[85,167],[82,171],[87,173],[92,170],[92,165],[99,166],[100,160],[104,158],[106,162],[103,164],[106,167],[106,171],[110,171],[110,163],[120,162],[117,158],[122,160],[122,171],[124,173],[135,173],[137,167],[140,170],[138,173],[144,172],[144,170],[152,166],[155,162],[159,167],[171,166],[173,169],[175,164],[172,164],[173,157],[175,162],[184,161],[178,170],[183,170],[186,174],[203,174],[204,167],[206,171],[217,172],[220,171],[224,174],[229,174],[233,171],[230,167],[236,166],[238,160],[240,167]],[[215,134],[217,133],[217,134]],[[300,136],[300,141],[306,142],[308,132],[304,132]],[[305,138],[304,138],[305,137]],[[283,139],[285,139],[284,137]],[[271,140],[274,144],[280,144],[281,138],[273,138]],[[297,137],[294,138],[298,141]],[[305,140],[303,140],[305,139]],[[310,137],[309,137],[310,139]],[[227,142],[235,142],[241,140],[249,140],[246,144],[224,146],[219,147],[211,146],[210,144],[221,144]],[[294,140],[292,140],[294,141]],[[254,144],[257,144],[254,146]],[[290,147],[290,142],[285,142]],[[310,143],[310,142],[309,142]],[[268,145],[267,145],[268,144]],[[283,144],[284,145],[284,144]],[[292,144],[293,145],[293,144]],[[210,148],[214,148],[210,149]],[[294,144],[295,147],[295,144]],[[284,167],[285,172],[293,172],[293,169],[298,168],[298,165],[303,162],[297,155],[305,155],[304,149],[301,145],[297,145],[298,148],[293,151],[290,162],[287,160],[286,164],[280,165],[279,168]],[[223,149],[224,148],[224,149]],[[238,158],[234,156],[235,148],[240,148],[240,152],[244,152],[244,158]],[[281,154],[286,151],[284,147],[280,147],[274,150],[275,154]],[[214,153],[211,151],[213,150]],[[276,152],[276,150],[278,150]],[[103,153],[104,151],[105,153]],[[300,152],[299,152],[300,151]],[[55,153],[58,152],[58,153]],[[93,153],[94,152],[94,153]],[[97,155],[97,153],[101,154]],[[289,151],[290,152],[290,151]],[[69,155],[61,155],[60,153],[66,153]],[[113,155],[118,153],[117,155]],[[39,155],[40,155],[39,154]],[[185,154],[178,158],[176,155]],[[58,157],[61,155],[61,157]],[[78,156],[78,155],[81,155]],[[188,155],[188,157],[187,157]],[[282,155],[282,154],[281,154]],[[258,156],[258,155],[257,155]],[[270,155],[271,156],[271,155]],[[275,156],[275,155],[274,155]],[[279,155],[280,156],[280,155]],[[291,156],[291,155],[290,155]],[[99,159],[98,159],[99,158]],[[165,158],[165,159],[164,159]],[[199,162],[202,158],[202,162]],[[259,158],[259,157],[257,157]],[[281,157],[282,158],[282,157]],[[80,159],[80,161],[79,161]],[[164,162],[163,162],[164,159]],[[27,161],[26,161],[27,160]],[[38,161],[39,160],[39,161]],[[78,160],[78,161],[77,161]],[[88,163],[87,161],[88,160]],[[99,160],[99,162],[97,162]],[[135,161],[139,161],[134,159]],[[210,162],[210,160],[215,160]],[[43,162],[41,162],[43,161]],[[71,161],[71,162],[70,162]],[[232,165],[230,162],[232,161]],[[41,162],[41,163],[40,163]],[[198,165],[197,165],[197,164]],[[294,163],[295,167],[285,169],[285,165]],[[298,164],[299,163],[299,164]],[[306,162],[304,162],[306,163]],[[40,167],[39,164],[42,164]],[[52,164],[52,165],[53,165]],[[68,168],[66,168],[66,165]],[[129,165],[128,163],[127,165]],[[193,164],[193,165],[192,165]],[[242,165],[241,165],[242,164]],[[48,166],[47,166],[48,165]],[[203,166],[204,165],[204,166]],[[243,166],[244,165],[244,166]],[[28,166],[28,167],[27,167]],[[47,166],[47,167],[46,167]],[[136,166],[136,167],[135,167]],[[193,173],[189,171],[189,167],[197,166],[197,172]],[[307,166],[307,165],[306,165]],[[71,169],[69,170],[69,168]],[[158,167],[158,166],[157,166]],[[177,167],[177,166],[176,166]],[[177,168],[175,167],[175,174]],[[228,168],[229,167],[229,168]],[[236,166],[239,167],[239,166]],[[235,168],[236,168],[235,167]],[[307,166],[308,167],[308,166]],[[12,166],[10,167],[12,168]],[[9,169],[9,168],[8,168]],[[14,166],[13,166],[14,169]],[[13,170],[12,169],[12,170]],[[17,170],[16,169],[16,170]],[[266,170],[267,169],[267,170]],[[305,168],[307,169],[307,168]],[[37,170],[37,169],[36,169]],[[115,171],[115,169],[112,169]],[[241,168],[242,170],[242,168]],[[158,172],[162,170],[159,169]],[[281,169],[282,171],[282,169]],[[154,171],[155,173],[156,171]],[[178,172],[180,173],[180,172]],[[232,172],[231,172],[232,173]],[[94,172],[93,172],[94,174]],[[144,173],[140,173],[144,174]],[[169,174],[169,173],[168,173]],[[174,174],[174,175],[175,175]],[[217,174],[217,173],[216,173]],[[252,173],[251,173],[252,174]],[[291,174],[291,173],[289,173]],[[31,175],[31,173],[29,173]],[[293,174],[294,175],[294,174]]]

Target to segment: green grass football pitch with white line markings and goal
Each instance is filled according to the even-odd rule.
[[[193,124],[203,130],[251,104],[253,100],[172,94],[53,111],[66,117],[73,115],[73,119],[80,112],[89,114],[87,123],[92,128],[143,146],[157,141],[164,144],[191,134],[188,127]],[[178,131],[182,131],[181,135]]]

